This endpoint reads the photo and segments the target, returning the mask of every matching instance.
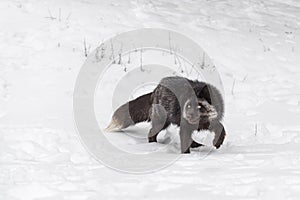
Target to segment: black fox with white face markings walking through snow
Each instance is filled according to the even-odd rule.
[[[181,153],[190,153],[190,148],[203,146],[192,139],[195,130],[214,132],[213,145],[220,148],[226,136],[221,123],[223,115],[224,101],[216,87],[170,76],[161,79],[152,92],[121,105],[105,130],[120,131],[140,122],[151,122],[148,142],[157,142],[157,135],[175,124],[180,128]]]

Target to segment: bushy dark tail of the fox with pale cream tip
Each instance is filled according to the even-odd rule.
[[[152,92],[129,101],[119,107],[113,114],[105,131],[118,131],[139,122],[150,121],[149,112],[152,105]]]

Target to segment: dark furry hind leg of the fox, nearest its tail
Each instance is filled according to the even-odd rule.
[[[166,129],[170,122],[168,121],[168,115],[165,108],[159,104],[154,104],[151,110],[151,123],[152,128],[148,134],[149,142],[157,142],[157,135],[163,129]]]

